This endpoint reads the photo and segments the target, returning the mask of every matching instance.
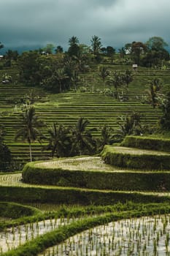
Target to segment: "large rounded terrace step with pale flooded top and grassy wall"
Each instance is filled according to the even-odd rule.
[[[101,157],[70,157],[29,162],[23,168],[26,184],[112,191],[170,191],[169,170],[131,170],[108,165]]]

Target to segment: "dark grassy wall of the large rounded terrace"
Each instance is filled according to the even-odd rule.
[[[78,159],[74,161],[78,162]],[[93,161],[90,159],[89,161]],[[56,167],[53,167],[56,162]],[[50,164],[50,162],[46,162]],[[29,184],[46,184],[85,189],[112,189],[128,191],[169,191],[169,172],[140,172],[131,170],[69,170],[60,167],[60,160],[51,167],[41,162],[28,163],[23,169],[23,181]],[[72,165],[72,164],[71,164]],[[88,165],[87,165],[88,166]],[[74,168],[74,167],[73,167]]]

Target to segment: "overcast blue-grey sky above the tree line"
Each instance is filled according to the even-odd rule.
[[[170,0],[0,0],[0,42],[5,48],[68,48],[69,38],[103,46],[162,37],[170,45]],[[4,49],[5,50],[5,49]]]

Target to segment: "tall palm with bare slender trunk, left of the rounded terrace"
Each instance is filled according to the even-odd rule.
[[[38,120],[33,106],[26,108],[25,112],[21,113],[20,117],[21,127],[16,132],[15,140],[18,138],[21,138],[23,141],[27,140],[29,144],[30,161],[32,162],[31,142],[34,140],[40,141],[42,133],[38,128],[44,127],[45,124]]]

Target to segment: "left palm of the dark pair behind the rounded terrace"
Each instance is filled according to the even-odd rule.
[[[47,146],[43,149],[51,150],[51,155],[54,157],[56,153],[57,157],[69,157],[71,151],[71,136],[70,129],[65,128],[63,125],[53,123],[53,126],[48,129],[49,138]]]

